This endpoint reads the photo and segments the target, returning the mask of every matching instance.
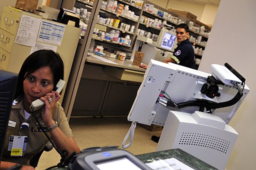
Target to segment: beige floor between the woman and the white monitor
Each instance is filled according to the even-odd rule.
[[[71,117],[69,121],[74,139],[80,149],[94,146],[116,145],[121,148],[131,122],[127,117]],[[161,131],[149,131],[137,124],[132,145],[126,150],[132,154],[142,154],[155,151],[157,143],[150,138],[151,135],[159,136]],[[52,149],[43,152],[36,170],[46,169],[56,165],[60,156]]]

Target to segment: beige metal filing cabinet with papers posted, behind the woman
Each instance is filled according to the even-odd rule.
[[[26,22],[27,25],[25,23],[24,25],[28,26],[28,20],[22,20],[22,16],[23,18],[28,18],[31,20],[36,18],[36,20],[39,19],[39,22],[45,21],[47,23],[57,24],[64,28],[61,44],[51,44],[50,42],[45,43],[39,42],[37,40],[34,43],[38,45],[37,49],[56,49],[56,52],[60,54],[64,62],[64,80],[67,81],[78,43],[80,29],[73,26],[46,20],[41,18],[39,15],[21,11],[13,7],[3,7],[2,10],[0,20],[0,69],[18,73],[25,58],[32,52],[32,50],[34,50],[33,46],[18,44],[14,42],[15,37],[19,33],[17,31],[20,24]],[[38,32],[39,27],[33,27],[33,29],[37,30],[35,32]],[[19,31],[22,30],[20,29]],[[37,36],[37,34],[35,34],[34,32],[27,33],[32,33],[30,34],[30,36]],[[62,90],[62,96],[64,94],[64,91],[65,87]]]

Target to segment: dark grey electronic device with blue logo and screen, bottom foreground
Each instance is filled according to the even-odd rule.
[[[130,152],[117,147],[106,146],[84,149],[71,158],[68,169],[151,169]]]

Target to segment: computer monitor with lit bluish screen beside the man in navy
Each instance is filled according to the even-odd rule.
[[[156,40],[156,47],[173,52],[176,44],[176,33],[162,28]]]

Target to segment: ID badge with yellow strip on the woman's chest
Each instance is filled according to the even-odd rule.
[[[27,136],[13,136],[9,137],[8,151],[10,156],[22,156],[26,151]]]

